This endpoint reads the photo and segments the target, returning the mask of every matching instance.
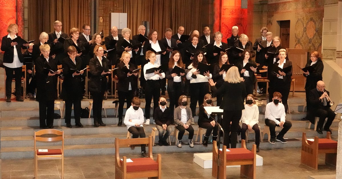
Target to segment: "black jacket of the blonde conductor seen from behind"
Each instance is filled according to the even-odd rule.
[[[223,94],[220,109],[226,111],[242,111],[245,109],[244,100],[247,95],[245,82],[229,83],[224,81],[219,89],[212,86],[211,90],[216,94]]]

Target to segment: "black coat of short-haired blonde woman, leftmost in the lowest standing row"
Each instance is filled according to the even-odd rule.
[[[36,59],[37,101],[55,100],[57,75],[48,76],[49,69],[56,72],[57,62],[49,56],[49,63],[43,55]]]

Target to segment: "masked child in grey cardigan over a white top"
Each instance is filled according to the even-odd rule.
[[[194,137],[194,128],[191,126],[191,122],[193,122],[192,111],[188,106],[187,97],[182,95],[178,99],[179,106],[174,109],[174,123],[177,130],[179,130],[178,138],[176,145],[177,147],[182,147],[182,138],[185,133],[185,130],[189,132],[189,146],[190,148],[194,147],[193,137]]]

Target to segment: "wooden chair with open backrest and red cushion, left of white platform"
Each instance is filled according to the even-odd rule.
[[[131,158],[133,162],[127,162],[126,156],[120,159],[120,148],[128,145],[148,145],[147,158]],[[157,161],[152,156],[152,137],[136,139],[115,138],[115,178],[161,178],[161,155],[157,155]]]

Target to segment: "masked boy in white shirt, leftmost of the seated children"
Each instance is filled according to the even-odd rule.
[[[143,110],[139,107],[140,99],[138,97],[134,97],[132,99],[131,107],[129,107],[125,114],[125,119],[123,123],[127,126],[128,131],[132,134],[132,138],[145,138],[145,131],[143,127],[144,123],[144,113]],[[131,145],[131,149],[134,149],[134,145]],[[141,156],[147,157],[146,154],[146,145],[141,145]]]

